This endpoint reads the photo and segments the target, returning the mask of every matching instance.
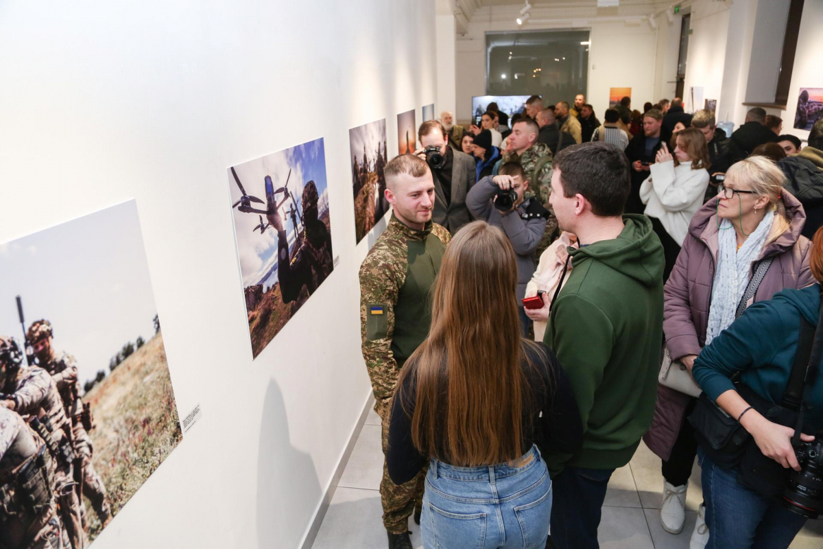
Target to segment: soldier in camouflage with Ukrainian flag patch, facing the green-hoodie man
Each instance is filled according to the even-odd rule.
[[[429,333],[431,288],[449,244],[449,231],[431,221],[435,184],[425,161],[402,155],[385,167],[386,197],[394,214],[360,266],[360,336],[363,358],[374,389],[374,411],[388,446],[389,401],[407,358]],[[388,547],[411,549],[408,518],[420,523],[425,469],[412,481],[395,485],[384,463],[380,482]]]

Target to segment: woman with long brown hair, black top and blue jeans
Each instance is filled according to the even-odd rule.
[[[574,453],[583,427],[556,356],[521,337],[517,260],[474,221],[443,258],[429,337],[403,366],[386,462],[407,482],[430,459],[424,547],[544,547],[551,479],[536,444]]]

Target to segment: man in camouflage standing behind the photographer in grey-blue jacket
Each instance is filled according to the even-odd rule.
[[[539,258],[543,250],[548,248],[549,244],[556,238],[557,218],[549,204],[551,174],[554,171],[551,162],[554,160],[554,156],[551,154],[551,148],[546,143],[537,142],[538,133],[540,133],[540,128],[533,120],[522,120],[515,123],[512,133],[509,135],[509,144],[514,147],[511,147],[513,150],[504,153],[502,164],[518,162],[523,166],[523,171],[526,172],[529,183],[525,198],[536,197],[543,207],[551,213],[549,221],[546,223],[543,238],[540,244],[537,244],[535,250],[535,255]]]

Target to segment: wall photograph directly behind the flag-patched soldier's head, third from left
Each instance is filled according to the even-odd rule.
[[[388,212],[383,174],[388,162],[386,119],[351,128],[349,147],[355,195],[355,237],[356,242],[360,243]]]

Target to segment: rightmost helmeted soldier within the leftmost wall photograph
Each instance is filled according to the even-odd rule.
[[[41,368],[49,372],[57,385],[66,416],[72,422],[72,440],[75,458],[80,469],[77,475],[81,483],[82,495],[91,501],[100,523],[105,527],[111,520],[111,506],[106,497],[103,479],[95,470],[91,458],[94,446],[88,430],[91,430],[91,410],[83,406],[80,398],[80,381],[77,374],[77,360],[66,351],[55,352],[52,347],[53,330],[48,320],[38,320],[29,327],[26,334]],[[86,505],[81,500],[81,515],[84,529],[86,525]]]

